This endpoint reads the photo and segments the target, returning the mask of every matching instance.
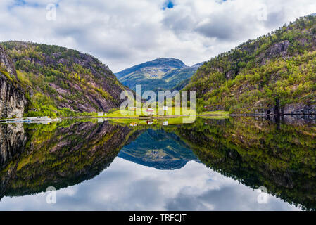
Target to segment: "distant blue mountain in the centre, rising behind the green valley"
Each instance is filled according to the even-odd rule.
[[[133,90],[137,84],[141,84],[144,91],[181,90],[189,82],[199,65],[189,67],[175,58],[158,58],[127,68],[115,75],[122,84]]]

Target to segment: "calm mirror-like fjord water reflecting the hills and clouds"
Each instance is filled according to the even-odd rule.
[[[315,210],[315,136],[290,116],[0,124],[0,210]]]

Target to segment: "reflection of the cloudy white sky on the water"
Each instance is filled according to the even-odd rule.
[[[56,204],[48,195],[4,197],[0,210],[300,210],[194,161],[158,170],[115,158],[94,179],[58,190]]]

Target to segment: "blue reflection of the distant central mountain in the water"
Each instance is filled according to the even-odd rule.
[[[156,169],[179,169],[196,156],[174,133],[148,129],[120,150],[120,158]]]

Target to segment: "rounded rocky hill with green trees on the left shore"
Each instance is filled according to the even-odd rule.
[[[8,58],[7,63],[1,59],[1,91],[6,92],[6,99],[14,96],[4,88],[3,79],[6,85],[9,80],[16,84],[18,91],[14,93],[24,94],[27,100],[24,105],[21,103],[24,101],[19,101],[16,106],[21,109],[18,115],[23,111],[30,116],[71,115],[72,112],[106,111],[120,105],[120,93],[125,87],[93,56],[59,46],[23,41],[7,41],[0,45],[1,58]],[[5,103],[1,100],[0,108]],[[11,107],[8,111],[14,110]],[[0,112],[4,111],[2,107]],[[11,117],[12,114],[1,113],[0,117]]]

